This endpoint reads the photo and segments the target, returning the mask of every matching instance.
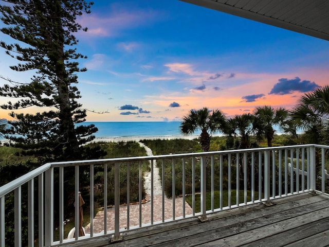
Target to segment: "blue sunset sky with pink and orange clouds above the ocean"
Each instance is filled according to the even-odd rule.
[[[227,117],[265,104],[291,108],[329,82],[328,41],[178,0],[96,0],[78,22],[88,27],[76,33],[88,56],[80,61],[88,69],[78,74],[80,102],[108,112],[88,112],[87,121],[177,121],[203,107]],[[1,49],[0,75],[28,82],[10,71],[14,64]]]

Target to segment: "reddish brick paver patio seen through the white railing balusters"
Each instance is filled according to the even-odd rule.
[[[129,207],[130,227],[139,225],[139,204]],[[162,195],[154,196],[153,221],[162,220]],[[185,214],[191,215],[192,208],[185,202]],[[114,207],[107,208],[107,231],[114,230]],[[182,216],[182,198],[175,199],[175,218]],[[142,203],[142,224],[151,223],[151,201]],[[165,219],[173,218],[173,200],[165,198]],[[99,211],[94,218],[94,233],[104,231],[104,210]],[[127,206],[120,206],[120,228],[127,227]],[[86,233],[90,233],[90,225],[85,226]]]

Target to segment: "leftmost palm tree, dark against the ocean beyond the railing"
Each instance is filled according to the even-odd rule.
[[[211,134],[224,130],[226,118],[221,110],[213,110],[212,114],[208,108],[199,110],[190,110],[187,116],[184,116],[180,125],[180,133],[191,135],[200,130],[200,144],[204,152],[210,149]]]

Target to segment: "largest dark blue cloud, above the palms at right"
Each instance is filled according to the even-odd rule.
[[[299,77],[295,77],[294,79],[281,78],[279,82],[273,86],[269,94],[285,95],[294,92],[306,93],[319,87],[320,86],[314,81],[302,81]]]

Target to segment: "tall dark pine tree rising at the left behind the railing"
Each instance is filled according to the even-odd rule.
[[[0,30],[16,43],[0,42],[6,53],[19,61],[10,66],[16,72],[35,71],[28,82],[15,82],[2,76],[7,84],[0,96],[14,98],[1,105],[15,120],[9,121],[6,138],[42,161],[82,158],[80,145],[94,139],[94,125],[76,127],[85,121],[86,110],[78,103],[78,59],[74,33],[83,30],[76,22],[90,13],[92,2],[84,0],[6,0],[0,4]],[[22,113],[30,107],[40,112]]]

